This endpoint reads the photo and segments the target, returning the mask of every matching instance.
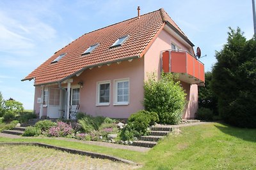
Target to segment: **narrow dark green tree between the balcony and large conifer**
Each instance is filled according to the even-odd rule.
[[[205,86],[199,87],[198,98],[199,98],[199,108],[209,108],[213,111],[214,115],[218,115],[217,109],[217,97],[214,92],[212,92],[210,83],[212,80],[212,72],[207,71],[205,73]]]

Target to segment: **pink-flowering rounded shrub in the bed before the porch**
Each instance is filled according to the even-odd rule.
[[[72,132],[74,132],[72,126],[65,122],[57,122],[56,126],[49,129],[49,135],[54,137],[65,137],[68,134],[72,134]]]

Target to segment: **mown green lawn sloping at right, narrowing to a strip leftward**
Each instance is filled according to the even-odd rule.
[[[256,169],[256,129],[211,123],[183,127],[147,153],[56,139],[8,139],[105,153],[143,164],[142,169]]]

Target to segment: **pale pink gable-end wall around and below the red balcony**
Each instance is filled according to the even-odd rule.
[[[159,78],[161,74],[161,51],[170,50],[171,43],[177,45],[180,50],[187,50],[192,53],[193,49],[188,48],[187,46],[182,45],[180,41],[170,35],[167,31],[163,29],[157,36],[156,40],[147,53],[145,53],[145,67],[144,67],[144,79],[148,79],[148,73],[156,72],[157,78]],[[195,118],[195,113],[198,109],[198,87],[197,85],[190,85],[188,83],[181,82],[183,89],[185,90],[186,96],[186,108],[184,110],[184,115],[182,118],[189,119]]]

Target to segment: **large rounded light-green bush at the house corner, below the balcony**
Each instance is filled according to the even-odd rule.
[[[186,103],[186,93],[173,74],[161,74],[157,80],[151,74],[144,84],[144,106],[147,111],[154,111],[161,124],[179,124]]]

